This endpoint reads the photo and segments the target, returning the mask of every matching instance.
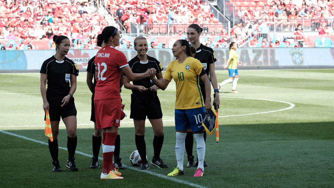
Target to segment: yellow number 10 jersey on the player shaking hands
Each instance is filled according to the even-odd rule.
[[[204,107],[204,100],[199,87],[199,74],[204,66],[193,58],[187,57],[183,63],[171,61],[166,69],[164,78],[176,82],[175,109],[194,109]]]

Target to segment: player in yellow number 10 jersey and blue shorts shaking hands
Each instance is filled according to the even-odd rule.
[[[185,138],[187,130],[192,129],[196,139],[198,167],[194,177],[204,174],[205,142],[203,138],[202,126],[205,113],[210,111],[210,80],[204,70],[204,66],[199,60],[190,57],[191,51],[195,52],[195,47],[190,46],[187,40],[177,40],[173,44],[172,52],[175,61],[168,64],[164,79],[158,80],[151,78],[159,88],[165,90],[169,82],[174,79],[176,82],[176,101],[175,101],[175,130],[176,145],[175,154],[177,167],[168,176],[184,174],[183,156],[185,150]],[[206,98],[203,99],[199,86],[199,78],[205,85]],[[205,103],[204,103],[205,100]]]

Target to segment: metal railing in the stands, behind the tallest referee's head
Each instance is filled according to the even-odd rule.
[[[219,35],[222,28],[228,28],[228,23],[223,24],[198,24],[203,28],[202,35],[211,34],[212,31]],[[189,24],[137,24],[137,32],[152,36],[183,36],[187,35]],[[132,29],[131,29],[132,30]],[[181,30],[181,33],[178,31]]]

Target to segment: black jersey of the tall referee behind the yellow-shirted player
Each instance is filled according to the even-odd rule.
[[[198,59],[204,66],[204,70],[209,77],[209,64],[217,61],[216,56],[212,48],[204,46],[201,44],[199,48],[196,49],[195,59]],[[209,77],[210,79],[210,77]],[[199,78],[199,85],[203,86],[204,82]]]

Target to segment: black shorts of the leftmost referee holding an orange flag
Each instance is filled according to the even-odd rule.
[[[65,97],[65,96],[64,96]],[[74,105],[74,97],[72,97],[67,105],[61,107],[63,103],[61,102],[64,97],[48,97],[46,96],[46,100],[49,103],[49,116],[50,121],[60,121],[63,118],[67,118],[69,116],[76,116],[76,109]],[[45,120],[46,116],[44,116]]]

